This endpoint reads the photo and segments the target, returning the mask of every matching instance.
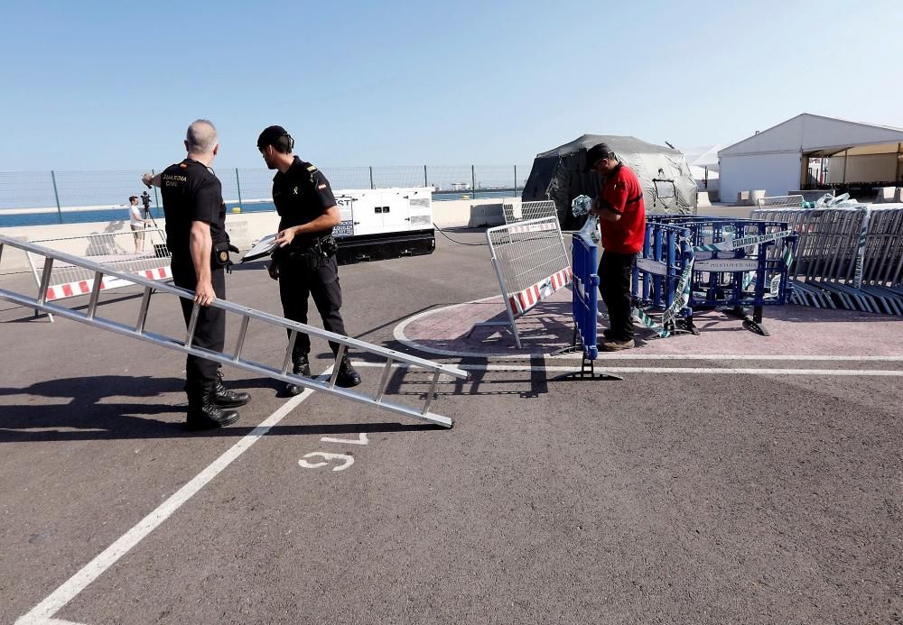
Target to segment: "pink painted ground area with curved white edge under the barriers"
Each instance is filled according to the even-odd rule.
[[[642,345],[630,354],[644,357],[646,354],[769,354],[797,359],[903,356],[903,318],[900,317],[800,306],[765,308],[764,317],[763,325],[770,336],[755,335],[743,328],[740,319],[719,311],[695,315],[699,336],[647,340],[651,333],[638,328]],[[573,339],[569,290],[555,291],[517,320],[523,349],[518,350],[511,333],[499,326],[480,327],[470,337],[465,336],[475,323],[489,319],[507,319],[500,297],[427,311],[407,320],[399,329],[405,339],[427,350],[486,355],[551,354],[571,345]],[[600,319],[600,338],[605,326],[606,320]]]

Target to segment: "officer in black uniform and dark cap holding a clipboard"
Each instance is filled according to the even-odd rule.
[[[332,238],[332,226],[340,222],[339,208],[332,195],[329,180],[311,163],[292,153],[294,140],[282,126],[269,126],[257,139],[257,149],[271,170],[278,170],[273,179],[273,203],[279,213],[280,245],[269,265],[270,277],[279,280],[279,296],[284,316],[307,323],[307,299],[320,311],[323,327],[345,335],[342,322],[339,267],[336,262],[337,245]],[[339,345],[330,341],[332,353]],[[299,334],[292,352],[293,372],[310,377],[308,354],[311,338]],[[357,386],[360,375],[351,366],[346,352],[339,363],[336,384]],[[285,391],[297,395],[301,389],[287,384]]]

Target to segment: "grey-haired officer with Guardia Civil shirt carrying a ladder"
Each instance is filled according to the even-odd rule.
[[[226,313],[209,308],[213,299],[226,298],[229,264],[226,205],[219,179],[210,165],[219,152],[216,128],[207,120],[191,124],[185,139],[188,156],[162,174],[144,174],[144,183],[161,188],[166,216],[166,244],[172,253],[176,286],[194,291],[194,300],[180,299],[185,325],[193,303],[200,304],[192,345],[221,352],[226,335]],[[222,383],[219,363],[189,355],[185,364],[188,427],[206,429],[235,423],[233,408],[251,399],[247,392],[229,391]]]

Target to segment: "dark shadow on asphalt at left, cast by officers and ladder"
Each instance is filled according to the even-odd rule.
[[[31,396],[0,407],[0,443],[33,441],[116,440],[172,437],[244,437],[255,426],[188,432],[184,427],[184,396],[180,378],[110,375],[41,381],[17,389],[0,387],[0,396]],[[234,389],[273,388],[281,382],[262,379],[227,381]],[[128,398],[163,400],[179,393],[179,404],[128,401]],[[119,401],[110,402],[107,398]],[[54,399],[69,400],[65,403]],[[50,400],[50,401],[48,401]],[[167,420],[154,418],[166,415]],[[172,420],[172,419],[175,420]],[[349,423],[272,427],[275,436],[316,436],[360,432],[410,432],[444,429],[426,424]]]

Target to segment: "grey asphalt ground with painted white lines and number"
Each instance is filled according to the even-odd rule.
[[[497,293],[485,247],[437,244],[340,268],[350,335],[410,351],[405,320]],[[154,297],[149,326],[177,332]],[[228,299],[280,312],[261,263]],[[134,323],[138,290],[103,301]],[[473,376],[439,386],[451,430],[227,369],[252,402],[189,434],[181,354],[0,301],[0,622],[898,622],[903,345],[882,328],[903,320],[847,323],[830,354],[773,335],[753,362],[681,337],[685,361],[620,354],[623,381],[433,354]],[[281,361],[283,334],[250,336]],[[402,373],[390,393],[423,400],[424,375]]]

